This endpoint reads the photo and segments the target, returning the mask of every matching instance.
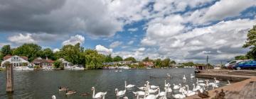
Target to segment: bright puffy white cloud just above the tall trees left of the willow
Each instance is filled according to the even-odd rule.
[[[83,37],[82,35],[75,35],[75,36],[71,36],[70,39],[65,40],[63,42],[63,45],[75,45],[77,43],[84,43],[85,42],[85,37]]]

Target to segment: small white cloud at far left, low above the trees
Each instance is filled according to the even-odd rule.
[[[23,43],[36,43],[36,40],[33,39],[30,33],[14,35],[8,37],[10,42],[14,42],[16,44],[23,44]]]

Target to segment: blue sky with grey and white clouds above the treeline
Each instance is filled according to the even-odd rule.
[[[255,0],[0,0],[0,47],[36,43],[138,60],[227,62],[246,54]]]

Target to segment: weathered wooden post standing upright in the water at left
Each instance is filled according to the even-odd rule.
[[[10,63],[6,63],[6,92],[14,92],[14,70]]]

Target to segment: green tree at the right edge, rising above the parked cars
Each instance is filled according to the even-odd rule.
[[[256,59],[256,25],[248,31],[247,40],[245,41],[245,45],[242,47],[249,47],[250,51],[247,52],[247,56],[252,59]]]

